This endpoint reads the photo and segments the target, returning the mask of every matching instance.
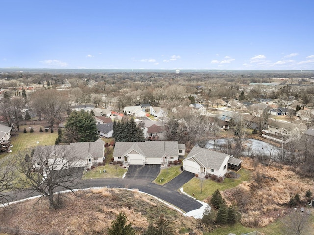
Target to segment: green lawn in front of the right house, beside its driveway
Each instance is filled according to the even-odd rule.
[[[193,195],[194,193],[194,197],[196,199],[204,200],[205,198],[211,196],[217,189],[219,189],[220,191],[224,191],[226,189],[236,187],[243,181],[249,180],[251,172],[242,168],[239,174],[241,175],[240,178],[238,179],[225,178],[225,180],[222,183],[218,183],[210,179],[202,180],[202,178],[194,177],[188,183],[185,183],[183,185],[183,191],[189,195]]]

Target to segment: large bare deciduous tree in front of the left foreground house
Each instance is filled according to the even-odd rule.
[[[29,157],[26,157],[26,156]],[[69,145],[38,146],[15,156],[19,172],[18,185],[29,192],[38,192],[49,200],[50,208],[57,209],[55,193],[78,188],[84,162]]]

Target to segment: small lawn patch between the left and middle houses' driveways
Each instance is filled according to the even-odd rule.
[[[106,172],[104,173],[103,170],[106,170]],[[83,179],[121,178],[126,172],[127,168],[123,168],[119,164],[107,164],[105,166],[98,166],[94,169],[84,172]]]

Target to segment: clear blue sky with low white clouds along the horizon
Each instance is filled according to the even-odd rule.
[[[0,68],[313,70],[313,0],[1,0]]]

